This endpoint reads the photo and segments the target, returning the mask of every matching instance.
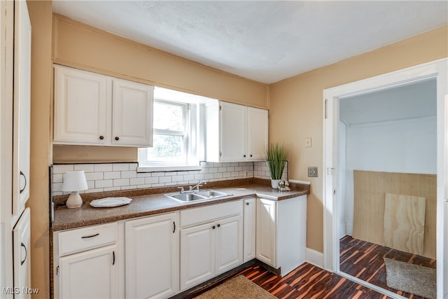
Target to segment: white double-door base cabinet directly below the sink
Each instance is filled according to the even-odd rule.
[[[181,211],[181,291],[243,263],[241,200]]]

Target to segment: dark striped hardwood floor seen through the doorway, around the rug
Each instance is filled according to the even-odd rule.
[[[350,236],[340,239],[339,256],[340,270],[342,272],[411,299],[421,299],[422,297],[397,291],[386,285],[386,266],[383,258],[392,258],[434,269],[436,264],[435,260],[430,258],[353,239]]]

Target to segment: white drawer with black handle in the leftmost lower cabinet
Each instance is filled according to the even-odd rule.
[[[59,256],[113,244],[118,239],[118,223],[58,232]]]

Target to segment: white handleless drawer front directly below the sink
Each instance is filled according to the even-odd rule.
[[[242,214],[243,203],[241,200],[212,204],[206,207],[186,209],[181,211],[181,227],[207,223],[216,219]]]

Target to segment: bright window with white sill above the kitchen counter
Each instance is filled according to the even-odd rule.
[[[204,99],[155,88],[153,147],[139,148],[139,172],[200,169],[200,107]]]

